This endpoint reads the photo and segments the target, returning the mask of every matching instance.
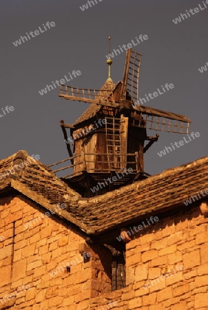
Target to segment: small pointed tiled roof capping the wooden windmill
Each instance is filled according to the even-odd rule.
[[[98,95],[100,95],[98,99],[99,98],[102,99],[102,95],[110,96],[110,94],[115,89],[115,87],[116,85],[114,84],[112,80],[105,81],[105,83],[101,87],[100,92],[98,92]],[[95,103],[93,103],[92,105],[90,105],[90,107],[87,108],[87,110],[85,110],[85,112],[78,118],[78,120],[74,122],[73,125],[78,125],[79,123],[82,123],[83,121],[87,121],[87,119],[95,116],[100,110],[101,110],[101,105],[96,105]]]

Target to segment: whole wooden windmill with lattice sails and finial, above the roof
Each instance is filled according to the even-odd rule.
[[[188,133],[191,121],[186,116],[136,104],[141,57],[142,54],[127,50],[123,80],[117,84],[110,77],[112,60],[108,59],[108,78],[101,90],[60,86],[61,98],[90,103],[74,124],[61,121],[70,158],[59,163],[69,160],[71,163],[55,170],[73,169],[63,180],[83,196],[103,194],[147,178],[143,154],[158,140],[158,134],[147,136],[147,129]],[[70,129],[73,149],[68,143],[67,129]],[[114,181],[107,181],[109,178]],[[102,187],[92,191],[101,184]]]

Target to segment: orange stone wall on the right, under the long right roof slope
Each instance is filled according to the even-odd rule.
[[[207,310],[207,223],[197,206],[132,234],[127,287],[90,300],[90,309]]]

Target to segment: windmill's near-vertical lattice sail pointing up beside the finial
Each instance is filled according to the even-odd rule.
[[[142,54],[133,52],[130,48],[126,52],[125,69],[123,74],[122,99],[125,100],[126,92],[132,97],[132,101],[138,102],[139,73]]]

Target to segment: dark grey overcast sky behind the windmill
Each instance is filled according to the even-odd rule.
[[[107,79],[107,36],[112,37],[113,50],[140,34],[148,36],[134,48],[143,53],[140,97],[173,83],[173,89],[148,105],[188,116],[189,133],[200,133],[160,157],[158,152],[185,134],[158,132],[158,142],[145,154],[145,172],[157,174],[207,156],[208,69],[201,73],[198,68],[206,63],[208,68],[208,4],[205,8],[202,0],[96,1],[81,10],[86,0],[1,0],[0,158],[19,149],[39,154],[45,165],[66,158],[59,121],[74,123],[88,104],[60,99],[58,87],[43,96],[39,91],[65,75],[69,78],[73,70],[81,75],[70,85],[99,89]],[[198,10],[191,14],[194,8]],[[174,23],[186,10],[189,17]],[[48,21],[55,26],[44,28]],[[35,30],[39,35],[33,34],[21,45],[12,43]],[[114,57],[114,83],[123,78],[124,63],[125,53]],[[14,111],[6,112],[7,105]]]

